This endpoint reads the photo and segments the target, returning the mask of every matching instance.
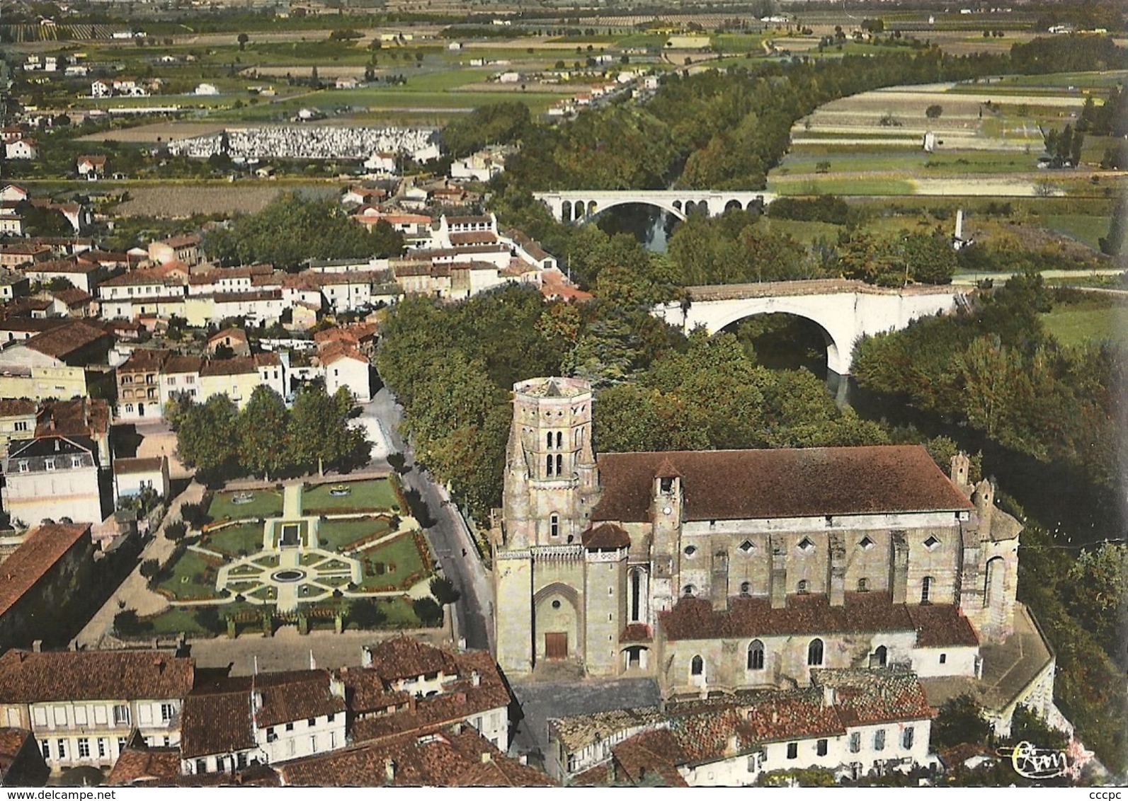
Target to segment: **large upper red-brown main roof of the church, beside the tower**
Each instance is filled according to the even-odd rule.
[[[687,520],[972,508],[919,445],[668,451],[600,454],[603,495],[592,519],[649,522],[667,463],[682,475]]]

